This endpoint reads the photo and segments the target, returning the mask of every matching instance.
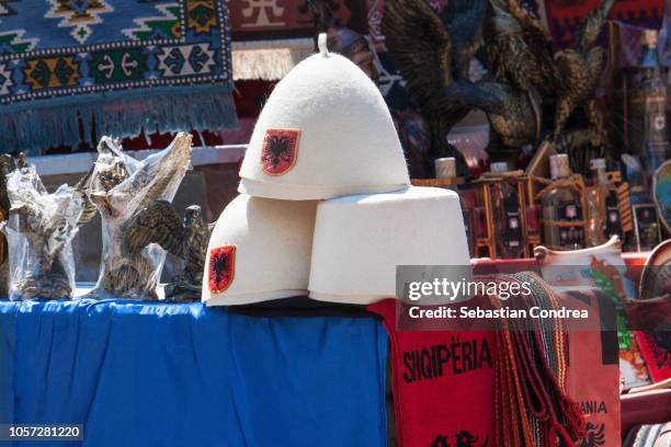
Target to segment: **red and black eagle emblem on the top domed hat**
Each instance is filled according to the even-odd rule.
[[[299,129],[268,129],[261,148],[261,168],[269,175],[288,172],[298,154]]]

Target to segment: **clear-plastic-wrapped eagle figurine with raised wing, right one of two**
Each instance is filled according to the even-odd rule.
[[[166,251],[150,244],[137,254],[124,250],[133,216],[152,200],[171,202],[191,162],[191,136],[138,161],[103,138],[92,177],[91,200],[102,217],[102,259],[93,295],[100,298],[156,299]]]

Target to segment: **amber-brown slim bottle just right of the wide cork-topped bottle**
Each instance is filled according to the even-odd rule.
[[[617,188],[609,181],[605,159],[592,159],[593,187],[588,194],[589,221],[587,239],[590,245],[601,245],[612,236],[622,241],[622,222],[619,219],[619,200]]]

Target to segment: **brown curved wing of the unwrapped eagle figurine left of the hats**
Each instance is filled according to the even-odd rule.
[[[182,218],[166,200],[155,200],[138,211],[127,224],[124,251],[139,253],[150,243],[181,257],[185,249],[185,230]]]

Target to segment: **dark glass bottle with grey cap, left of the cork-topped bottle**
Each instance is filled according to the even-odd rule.
[[[491,163],[490,171],[508,172],[508,163],[504,161]],[[522,233],[518,188],[505,181],[498,181],[491,186],[491,191],[497,254],[503,259],[520,257],[525,242]]]

